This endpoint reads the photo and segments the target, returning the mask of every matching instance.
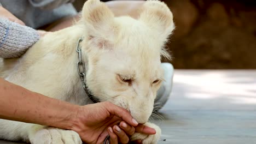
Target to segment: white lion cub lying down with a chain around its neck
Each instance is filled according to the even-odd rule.
[[[131,140],[157,143],[161,130],[148,123],[163,77],[161,56],[174,29],[173,16],[160,1],[147,1],[138,20],[114,17],[99,0],[84,4],[81,20],[72,27],[45,35],[19,59],[2,59],[1,76],[49,97],[73,104],[92,103],[77,70],[79,47],[86,68],[87,89],[99,101],[110,101],[131,112],[137,122],[156,130],[135,133]],[[40,143],[82,143],[74,131],[0,119],[0,139]]]

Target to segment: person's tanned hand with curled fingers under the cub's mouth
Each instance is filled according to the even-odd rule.
[[[118,133],[115,128],[122,120],[127,127],[122,128],[122,132]],[[123,122],[120,124],[123,125]],[[102,102],[80,106],[77,116],[73,119],[72,128],[68,129],[76,131],[85,143],[103,143],[107,135],[110,135],[111,143],[117,143],[118,140],[127,141],[127,137],[135,132],[136,128],[132,127],[136,126],[138,131],[143,133],[155,133],[152,128],[139,126],[129,111],[112,103]]]

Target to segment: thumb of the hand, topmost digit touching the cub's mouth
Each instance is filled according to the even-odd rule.
[[[127,111],[126,109],[124,109],[120,106],[114,105],[110,102],[103,102],[103,103],[105,103],[107,105],[106,109],[112,115],[120,117],[125,122],[132,125],[133,127],[136,127],[138,125],[138,122],[131,116],[131,113],[129,111]]]

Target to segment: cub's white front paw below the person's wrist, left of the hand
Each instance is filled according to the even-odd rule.
[[[30,131],[32,144],[82,144],[79,135],[72,130],[53,127],[36,128]]]

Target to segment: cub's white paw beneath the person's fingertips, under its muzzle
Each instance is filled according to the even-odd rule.
[[[158,125],[155,125],[153,123],[146,123],[144,125],[147,125],[150,128],[154,128],[156,131],[156,134],[146,135],[146,134],[141,134],[141,133],[135,133],[131,136],[131,141],[142,140],[142,144],[158,143],[158,140],[160,139],[160,136],[161,136],[161,129],[158,127]]]

